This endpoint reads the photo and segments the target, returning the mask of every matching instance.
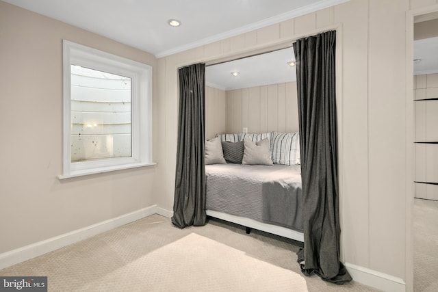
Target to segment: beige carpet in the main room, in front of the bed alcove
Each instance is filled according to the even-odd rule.
[[[49,291],[376,291],[302,276],[292,243],[216,220],[180,230],[152,215],[0,275],[48,276]]]

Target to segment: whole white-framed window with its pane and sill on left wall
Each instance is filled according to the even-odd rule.
[[[152,68],[64,40],[64,173],[152,162]]]

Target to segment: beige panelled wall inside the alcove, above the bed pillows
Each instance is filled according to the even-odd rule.
[[[296,82],[218,90],[207,88],[207,139],[216,133],[298,131]]]

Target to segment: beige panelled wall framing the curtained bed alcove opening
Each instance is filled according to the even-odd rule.
[[[351,0],[158,60],[166,145],[159,205],[171,210],[177,137],[177,68],[268,48],[337,28],[342,259],[412,290],[413,103],[407,12],[435,0]],[[409,95],[408,94],[408,95]],[[236,127],[237,128],[237,127]],[[400,183],[402,182],[402,183]],[[404,183],[406,182],[406,183]],[[394,278],[393,278],[394,277]],[[399,291],[402,291],[399,290]]]

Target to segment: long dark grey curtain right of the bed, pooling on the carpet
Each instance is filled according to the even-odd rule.
[[[304,196],[297,254],[303,274],[342,284],[351,277],[339,262],[335,40],[336,31],[327,31],[294,43]]]

